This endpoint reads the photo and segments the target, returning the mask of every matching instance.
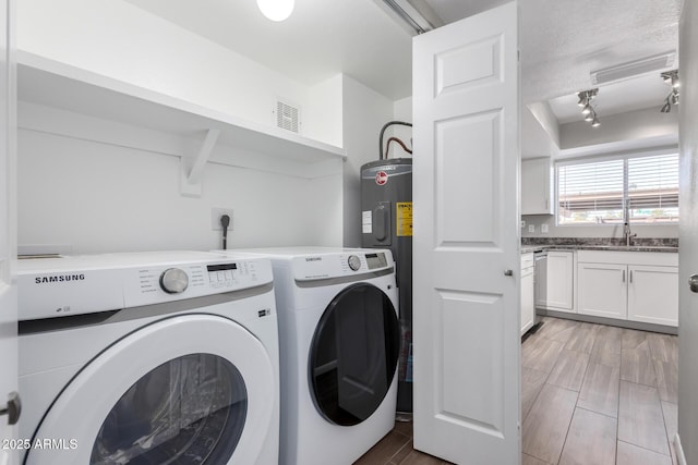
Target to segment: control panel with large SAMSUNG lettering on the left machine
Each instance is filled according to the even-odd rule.
[[[21,260],[20,320],[67,317],[241,291],[273,282],[268,258],[207,253]]]

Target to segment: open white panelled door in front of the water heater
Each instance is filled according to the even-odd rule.
[[[418,36],[414,446],[517,464],[519,71],[516,2]]]

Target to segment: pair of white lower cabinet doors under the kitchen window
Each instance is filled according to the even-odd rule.
[[[669,253],[579,250],[577,311],[678,325],[678,256]]]

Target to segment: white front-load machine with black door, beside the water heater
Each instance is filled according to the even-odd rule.
[[[395,425],[399,322],[389,250],[244,249],[272,259],[280,463],[347,465]]]

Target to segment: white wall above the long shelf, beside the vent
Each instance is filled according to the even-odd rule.
[[[277,98],[299,105],[301,118],[316,113],[306,86],[121,0],[22,0],[17,9],[21,51],[263,124],[276,124]],[[311,118],[303,132],[337,145],[341,126],[327,124]]]

